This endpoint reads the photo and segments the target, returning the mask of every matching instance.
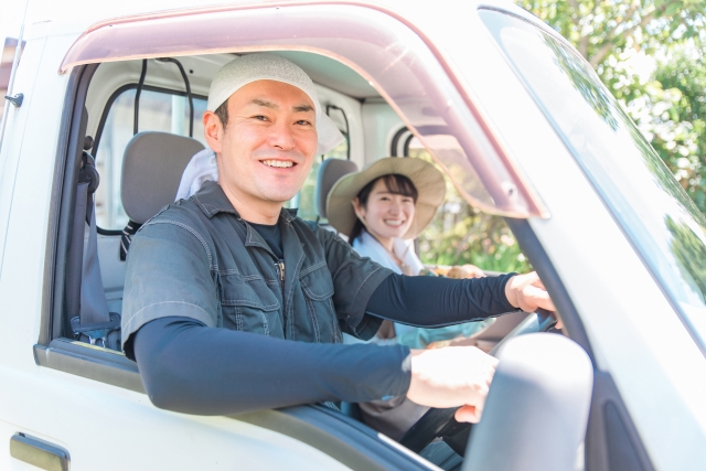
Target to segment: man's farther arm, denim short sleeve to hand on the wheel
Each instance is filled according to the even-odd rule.
[[[335,306],[345,332],[370,339],[381,319],[418,327],[445,327],[522,308],[554,310],[536,274],[450,279],[406,277],[361,257],[341,237],[311,223],[325,250]]]

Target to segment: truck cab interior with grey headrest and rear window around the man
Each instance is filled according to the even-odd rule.
[[[340,176],[387,156],[419,158],[410,157],[410,148],[421,158],[429,157],[393,107],[350,67],[307,52],[276,53],[312,77],[321,106],[345,137],[338,148],[317,157],[304,186],[288,204],[299,210],[300,217],[334,231],[327,224],[325,196]],[[82,200],[78,196],[82,190],[77,190],[75,232],[66,255],[66,303],[56,330],[58,341],[71,342],[73,349],[90,345],[95,351],[121,355],[119,315],[129,237],[174,201],[184,168],[205,147],[201,116],[211,77],[233,57],[233,54],[160,57],[104,63],[95,69],[86,96],[87,119],[78,176],[78,186],[87,186],[88,197]],[[87,216],[83,224],[81,215],[92,212],[95,223]],[[90,254],[93,250],[95,256]],[[86,260],[97,260],[99,271],[87,267]],[[95,292],[87,292],[90,290]],[[94,321],[86,322],[93,314],[86,299],[101,296],[110,318],[105,320],[107,323],[100,323],[98,318],[88,318]],[[513,313],[499,318],[467,343],[490,351],[526,317]],[[103,329],[97,329],[97,324]],[[544,330],[548,321],[545,324]],[[132,366],[125,362],[127,367]],[[343,410],[351,417],[357,416],[355,405],[345,404]],[[449,417],[445,419],[448,420]],[[468,432],[460,437],[458,448],[462,452]],[[407,443],[415,451],[426,445]]]

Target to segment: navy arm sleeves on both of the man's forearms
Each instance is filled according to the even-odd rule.
[[[481,320],[514,308],[511,275],[452,280],[391,275],[368,314],[419,327]],[[153,320],[132,349],[145,388],[158,407],[228,415],[324,400],[366,402],[407,393],[409,349],[320,344],[210,328],[197,320]]]

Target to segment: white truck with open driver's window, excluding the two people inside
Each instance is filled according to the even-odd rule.
[[[179,181],[211,78],[257,51],[317,84],[347,138],[327,158],[425,148],[507,218],[557,306],[565,336],[507,344],[524,379],[499,370],[462,469],[706,469],[706,221],[566,40],[500,1],[197,3],[54,2],[25,26],[0,153],[0,469],[437,469],[319,406],[158,409],[114,318],[72,324],[89,286],[120,314],[121,231],[173,199],[150,183]],[[312,175],[292,204],[315,217],[322,192]]]

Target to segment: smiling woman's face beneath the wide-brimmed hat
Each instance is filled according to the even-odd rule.
[[[404,236],[415,218],[413,197],[391,193],[383,179],[373,185],[365,206],[357,197],[354,203],[357,216],[378,240]]]

